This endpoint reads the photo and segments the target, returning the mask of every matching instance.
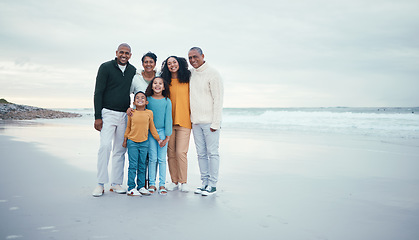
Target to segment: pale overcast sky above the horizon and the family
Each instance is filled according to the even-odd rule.
[[[91,108],[98,67],[203,49],[224,107],[419,106],[419,1],[0,0],[0,98]]]

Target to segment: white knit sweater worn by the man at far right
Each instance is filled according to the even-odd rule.
[[[219,129],[224,95],[221,76],[206,62],[191,72],[191,121],[193,124],[210,123],[211,128]]]

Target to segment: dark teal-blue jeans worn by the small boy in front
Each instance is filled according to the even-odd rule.
[[[149,141],[134,142],[127,140],[128,148],[128,191],[135,188],[135,177],[137,177],[137,188],[145,185],[146,158]]]

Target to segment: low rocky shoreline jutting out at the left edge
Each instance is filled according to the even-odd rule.
[[[14,103],[0,103],[0,120],[32,120],[32,119],[56,119],[75,118],[80,114],[62,112],[57,110],[18,105]]]

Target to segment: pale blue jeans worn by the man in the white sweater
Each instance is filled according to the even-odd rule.
[[[192,124],[192,132],[198,154],[202,185],[216,187],[220,167],[218,153],[220,129],[211,132],[210,126],[211,124]]]

